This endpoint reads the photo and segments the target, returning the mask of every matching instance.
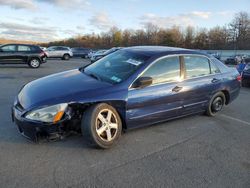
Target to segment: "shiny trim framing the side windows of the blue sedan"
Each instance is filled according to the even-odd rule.
[[[134,84],[134,82],[141,76],[143,75],[151,66],[153,66],[155,63],[157,63],[158,61],[164,59],[164,58],[167,58],[167,57],[181,57],[181,56],[198,56],[198,57],[205,57],[209,60],[209,68],[210,68],[210,73],[211,73],[211,58],[207,57],[206,55],[202,55],[202,54],[171,54],[171,55],[165,55],[165,56],[162,56],[156,60],[154,60],[147,68],[145,68],[137,77],[136,79],[134,79],[134,81],[129,85],[129,91],[130,90],[134,90],[134,89],[140,89],[140,88],[131,88],[132,85]],[[181,63],[181,62],[179,62]],[[212,62],[213,63],[213,62]],[[219,69],[220,70],[220,69]],[[181,72],[181,67],[180,67],[180,72]],[[191,80],[191,79],[196,79],[196,78],[203,78],[203,77],[208,77],[208,76],[212,76],[212,75],[217,75],[217,74],[221,74],[220,73],[214,73],[214,74],[209,74],[209,75],[204,75],[204,76],[197,76],[197,77],[193,77],[193,78],[185,78],[183,79],[182,81],[180,82],[183,82],[183,81],[186,81],[186,80]],[[168,83],[180,83],[178,81],[171,81],[171,82],[163,82],[163,83],[158,83],[158,84],[152,84],[150,86],[147,86],[147,87],[152,87],[152,86],[157,86],[157,85],[162,85],[162,84],[168,84]]]

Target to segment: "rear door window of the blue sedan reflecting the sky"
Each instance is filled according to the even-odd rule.
[[[201,56],[184,56],[186,78],[195,78],[210,74],[209,59]]]

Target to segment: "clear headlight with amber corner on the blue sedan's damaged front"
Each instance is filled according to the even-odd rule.
[[[46,123],[56,123],[62,119],[67,106],[67,103],[62,103],[46,108],[41,108],[28,112],[25,118]]]

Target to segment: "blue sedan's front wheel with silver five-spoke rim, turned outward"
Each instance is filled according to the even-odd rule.
[[[112,115],[110,116],[110,122],[116,121],[117,123],[117,129],[113,129],[109,127],[105,128],[109,125],[104,125],[100,120],[99,116],[101,113],[105,113],[107,110],[107,113],[109,111],[112,112]],[[105,115],[105,114],[104,114]],[[108,116],[108,114],[107,114]],[[108,117],[106,116],[106,120]],[[104,116],[101,116],[104,117]],[[113,123],[114,124],[114,123]],[[104,128],[104,130],[103,130]],[[113,108],[112,106],[106,104],[106,103],[100,103],[91,106],[88,108],[85,113],[83,114],[82,123],[81,123],[81,129],[82,134],[87,141],[89,141],[90,144],[93,144],[94,146],[98,148],[107,149],[112,147],[114,144],[117,143],[119,137],[121,136],[122,132],[122,121],[120,119],[119,114]],[[103,132],[99,135],[98,130],[103,130]],[[108,132],[110,133],[110,136],[112,137],[112,140],[108,141]],[[110,138],[111,138],[110,137]]]

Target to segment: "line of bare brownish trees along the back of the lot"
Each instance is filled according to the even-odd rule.
[[[64,45],[92,49],[114,46],[162,45],[204,50],[250,49],[250,15],[247,12],[235,14],[225,26],[210,29],[188,26],[181,28],[158,27],[151,23],[145,28],[121,30],[117,27],[100,34],[86,34],[62,41],[41,44],[43,46]]]

